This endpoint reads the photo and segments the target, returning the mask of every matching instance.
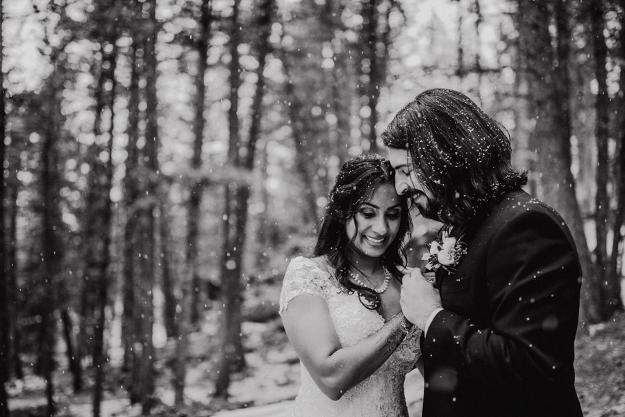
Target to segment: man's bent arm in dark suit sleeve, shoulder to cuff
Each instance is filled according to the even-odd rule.
[[[440,311],[424,339],[426,368],[511,390],[557,388],[574,359],[581,281],[560,222],[533,208],[494,234],[486,265],[492,325]]]

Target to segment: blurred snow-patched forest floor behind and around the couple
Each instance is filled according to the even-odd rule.
[[[174,408],[172,373],[167,363],[172,359],[174,344],[169,341],[158,349],[156,362],[156,399],[152,416],[193,417],[285,417],[292,407],[300,384],[300,364],[276,316],[275,289],[247,301],[247,316],[267,316],[267,320],[247,320],[242,333],[247,370],[232,378],[227,403],[212,401],[214,391],[211,371],[215,366],[217,346],[217,314],[210,310],[197,332],[190,334],[190,363],[186,379],[186,407]],[[263,309],[268,309],[264,311]],[[85,389],[72,390],[67,373],[63,343],[58,343],[58,370],[54,375],[55,398],[60,417],[92,416],[92,377],[85,372]],[[112,355],[114,356],[114,355]],[[585,415],[588,417],[625,416],[625,313],[609,322],[578,332],[576,342],[576,386]],[[32,363],[24,363],[26,377],[7,384],[12,417],[44,416],[44,380],[33,375]],[[119,368],[109,363],[106,392],[101,403],[102,417],[140,416],[141,409],[130,404]],[[410,417],[420,417],[423,378],[418,371],[408,374],[406,400]]]

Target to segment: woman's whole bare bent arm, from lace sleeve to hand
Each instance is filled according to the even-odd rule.
[[[345,391],[372,375],[397,349],[410,322],[399,313],[369,338],[342,347],[319,295],[303,294],[290,300],[282,313],[284,328],[301,363],[319,389],[338,400]]]

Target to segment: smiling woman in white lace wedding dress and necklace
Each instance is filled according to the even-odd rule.
[[[408,416],[403,383],[421,354],[399,304],[410,228],[386,159],[342,166],[315,257],[292,259],[283,281],[280,313],[302,363],[292,416]]]

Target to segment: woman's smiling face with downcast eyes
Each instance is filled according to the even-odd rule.
[[[347,236],[353,239],[353,250],[374,258],[386,252],[399,231],[399,201],[395,188],[390,184],[382,184],[371,199],[360,204],[356,215],[345,224]]]

